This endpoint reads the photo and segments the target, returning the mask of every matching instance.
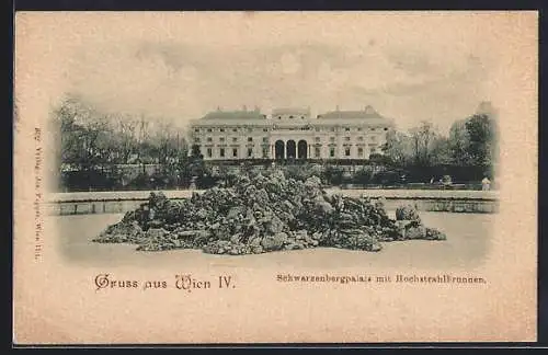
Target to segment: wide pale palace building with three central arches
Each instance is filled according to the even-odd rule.
[[[393,121],[372,106],[317,117],[309,108],[210,112],[191,124],[191,145],[204,160],[362,160],[383,153]]]

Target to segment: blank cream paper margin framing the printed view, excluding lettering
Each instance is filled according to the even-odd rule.
[[[202,23],[215,36],[228,14],[201,13],[178,22]],[[239,14],[230,14],[236,16]],[[253,31],[276,41],[284,37],[273,24],[306,31],[288,13],[261,14]],[[294,15],[294,14],[293,14]],[[359,31],[366,14],[301,14],[328,26],[344,18]],[[393,13],[386,15],[387,21]],[[401,14],[400,14],[401,15]],[[429,15],[429,13],[424,13]],[[452,13],[444,13],[453,16]],[[35,141],[34,128],[46,134],[50,103],[67,87],[64,64],[70,45],[85,34],[115,36],[113,23],[139,33],[142,23],[169,27],[175,13],[18,13],[15,19],[14,119],[14,335],[16,344],[78,343],[240,343],[240,342],[467,342],[535,341],[537,322],[537,19],[536,12],[483,13],[479,32],[484,45],[500,53],[500,70],[491,82],[492,102],[500,111],[500,213],[489,253],[479,266],[460,270],[397,270],[363,267],[295,268],[271,262],[238,266],[218,259],[206,270],[182,261],[180,270],[159,265],[94,267],[67,263],[59,253],[56,226],[44,224],[42,257],[34,260]],[[312,19],[313,16],[313,19]],[[250,19],[253,16],[250,16]],[[250,20],[252,21],[252,20]],[[236,22],[235,22],[236,23]],[[246,22],[249,24],[248,22]],[[161,25],[160,25],[161,24]],[[218,24],[218,26],[217,26]],[[421,26],[421,22],[416,22]],[[237,36],[247,27],[229,35]],[[249,28],[248,28],[249,30]],[[197,35],[197,34],[196,34]],[[336,36],[336,33],[323,35]],[[432,31],[432,36],[443,33]],[[340,41],[352,41],[341,37]],[[501,49],[503,47],[503,50]],[[44,152],[42,192],[47,193],[55,157]],[[43,213],[44,215],[44,213]],[[47,220],[44,217],[44,220]],[[450,272],[484,277],[488,285],[341,285],[277,283],[286,272],[308,274],[393,274]],[[117,279],[165,279],[179,273],[195,277],[233,275],[232,290],[212,288],[184,294],[173,287],[161,291],[112,290],[95,293],[99,273]]]

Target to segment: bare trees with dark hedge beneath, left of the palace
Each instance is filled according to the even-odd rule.
[[[107,113],[69,95],[53,110],[52,121],[60,187],[151,187],[180,183],[193,173],[184,131],[168,119]],[[124,165],[139,168],[128,174]],[[155,167],[152,173],[149,165]]]

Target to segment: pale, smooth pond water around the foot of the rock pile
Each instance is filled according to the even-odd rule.
[[[389,211],[392,214],[393,211]],[[384,243],[380,252],[316,248],[251,255],[210,255],[199,250],[139,252],[136,245],[102,244],[91,240],[122,214],[50,216],[57,227],[62,255],[71,263],[88,266],[182,267],[185,265],[233,267],[459,267],[480,264],[489,252],[494,215],[422,211],[427,227],[442,230],[446,241],[398,241]]]

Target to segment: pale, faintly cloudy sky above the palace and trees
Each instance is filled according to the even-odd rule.
[[[22,46],[34,43],[44,61],[34,70],[50,73],[43,99],[76,94],[100,110],[180,127],[217,107],[259,106],[265,114],[310,107],[316,116],[372,105],[400,129],[425,119],[447,131],[480,102],[493,101],[504,70],[501,34],[512,31],[503,15],[470,12],[52,13],[23,20]]]

